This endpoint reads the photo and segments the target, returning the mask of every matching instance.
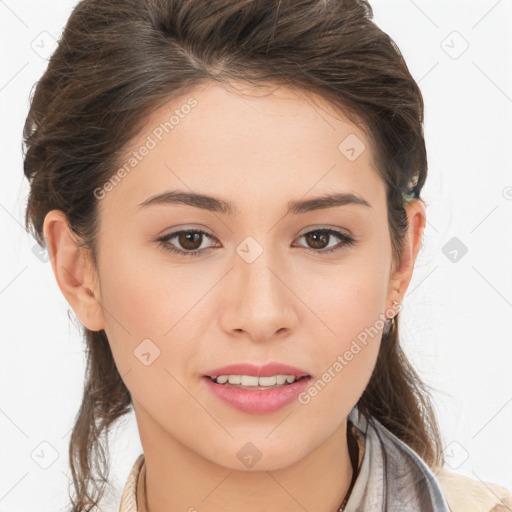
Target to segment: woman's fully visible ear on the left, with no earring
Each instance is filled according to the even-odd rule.
[[[43,234],[59,288],[76,316],[91,331],[104,328],[99,281],[87,249],[78,245],[60,210],[46,214]]]

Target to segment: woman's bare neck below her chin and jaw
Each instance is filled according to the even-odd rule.
[[[137,416],[145,458],[145,482],[137,494],[141,512],[337,512],[353,477],[346,421],[306,457],[273,471],[240,471],[215,464]],[[147,510],[143,506],[147,502]]]

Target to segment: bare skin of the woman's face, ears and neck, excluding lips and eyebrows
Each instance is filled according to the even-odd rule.
[[[105,330],[131,393],[150,512],[216,512],[228,503],[247,512],[333,512],[352,478],[346,417],[371,376],[381,333],[308,404],[274,413],[232,409],[202,376],[226,364],[278,361],[320,378],[393,301],[403,302],[425,208],[421,200],[406,205],[409,232],[394,265],[385,184],[364,133],[318,98],[284,87],[238,91],[209,84],[149,115],[127,158],[190,97],[198,102],[99,200],[97,269],[62,212],[48,213],[44,234],[62,293],[83,325]],[[338,149],[350,134],[366,146],[353,161]],[[174,189],[223,198],[239,213],[138,208]],[[371,207],[285,215],[290,200],[333,192]],[[321,254],[340,240],[314,245],[303,235],[322,227],[356,243]],[[180,256],[155,241],[184,228],[213,238],[167,243],[203,253]],[[251,263],[236,251],[248,236],[263,251]],[[145,339],[153,356],[160,350],[149,365],[134,355]],[[248,442],[261,453],[251,468],[237,457]]]

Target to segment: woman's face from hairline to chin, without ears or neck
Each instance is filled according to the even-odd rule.
[[[261,456],[268,470],[344,425],[397,296],[368,139],[290,89],[252,93],[209,84],[153,111],[97,190],[96,295],[141,435],[230,468]],[[361,201],[313,201],[328,194]],[[309,377],[274,391],[210,378],[268,363]]]

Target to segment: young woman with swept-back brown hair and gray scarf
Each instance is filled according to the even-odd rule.
[[[101,436],[132,408],[121,512],[512,503],[443,469],[399,344],[423,100],[371,18],[355,0],[74,9],[24,132],[27,227],[87,343],[73,511],[98,507]]]

